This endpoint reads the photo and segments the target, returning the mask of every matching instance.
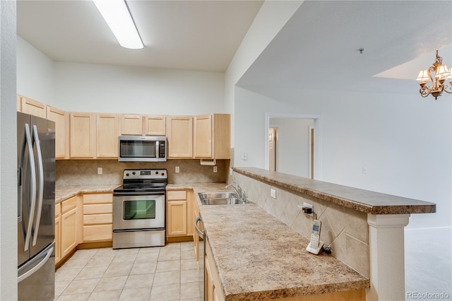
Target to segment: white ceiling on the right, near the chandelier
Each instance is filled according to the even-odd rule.
[[[452,65],[451,43],[452,1],[304,1],[239,85],[418,93],[436,49]]]

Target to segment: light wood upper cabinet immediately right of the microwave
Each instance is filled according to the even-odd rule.
[[[167,117],[168,158],[193,158],[193,117]]]

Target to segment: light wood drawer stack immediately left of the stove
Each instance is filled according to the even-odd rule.
[[[112,240],[113,194],[83,194],[83,242]]]

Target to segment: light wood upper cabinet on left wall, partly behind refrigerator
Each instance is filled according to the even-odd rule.
[[[55,159],[69,159],[69,113],[47,105],[47,119],[55,122]]]

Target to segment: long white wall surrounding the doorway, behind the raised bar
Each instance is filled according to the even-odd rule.
[[[437,213],[413,214],[409,227],[451,226],[451,95],[434,101],[343,91],[266,94],[273,98],[236,88],[236,166],[265,166],[267,112],[321,114],[323,181],[432,201]]]

